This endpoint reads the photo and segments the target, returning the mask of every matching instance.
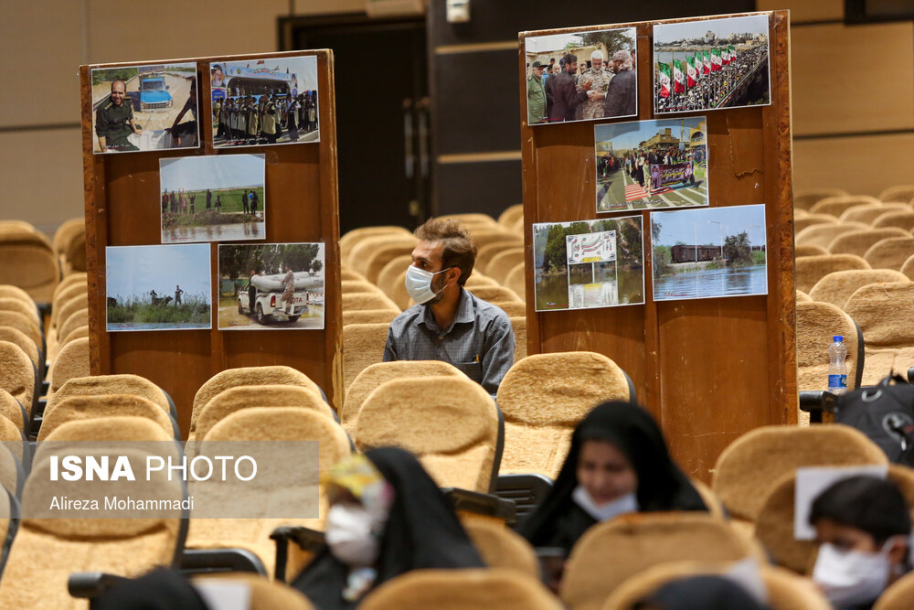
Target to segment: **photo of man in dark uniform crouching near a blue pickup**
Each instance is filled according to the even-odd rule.
[[[92,70],[92,150],[198,148],[197,64]]]

